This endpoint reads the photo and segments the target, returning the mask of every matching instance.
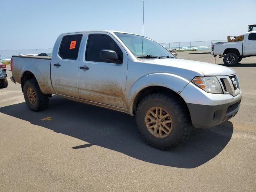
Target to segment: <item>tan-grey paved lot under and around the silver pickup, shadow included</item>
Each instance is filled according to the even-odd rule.
[[[178,57],[214,63],[189,53]],[[0,191],[256,191],[256,57],[232,68],[238,114],[172,151],[144,144],[128,114],[56,96],[32,112],[9,81],[0,90]]]

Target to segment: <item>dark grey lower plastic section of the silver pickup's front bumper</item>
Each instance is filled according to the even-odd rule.
[[[234,117],[239,110],[241,98],[222,105],[200,105],[187,103],[195,128],[211,128]]]

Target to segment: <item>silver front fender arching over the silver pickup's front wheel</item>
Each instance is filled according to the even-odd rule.
[[[129,105],[129,113],[133,114],[133,105],[136,96],[141,90],[151,86],[162,86],[170,90],[180,93],[190,81],[169,73],[154,73],[148,74],[139,78],[127,92],[127,104]]]

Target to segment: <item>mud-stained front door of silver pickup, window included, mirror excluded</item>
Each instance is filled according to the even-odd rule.
[[[80,58],[78,71],[79,96],[111,106],[123,107],[127,75],[127,54],[106,34],[91,34],[84,46],[87,52]],[[103,49],[117,52],[121,62],[100,57]]]

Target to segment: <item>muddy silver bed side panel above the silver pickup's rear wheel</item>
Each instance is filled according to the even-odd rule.
[[[36,77],[38,85],[44,94],[53,94],[50,67],[50,56],[29,56],[14,55],[12,56],[13,70],[12,77],[22,84],[22,76],[26,72],[31,72]]]

